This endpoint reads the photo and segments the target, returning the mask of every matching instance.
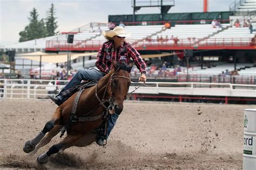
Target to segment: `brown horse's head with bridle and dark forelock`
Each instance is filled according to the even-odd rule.
[[[109,93],[112,96],[114,112],[120,114],[123,111],[123,103],[131,84],[130,72],[132,64],[118,64],[113,62],[114,73],[111,76]]]

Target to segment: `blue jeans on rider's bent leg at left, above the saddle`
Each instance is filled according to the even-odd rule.
[[[60,93],[70,89],[73,86],[79,85],[82,80],[89,80],[89,79],[99,80],[99,78],[103,76],[105,76],[104,73],[95,69],[78,70],[75,76],[69,81],[68,84],[66,84],[66,86],[60,91]],[[59,98],[60,100],[64,100],[63,97],[60,95],[60,93],[56,97]]]

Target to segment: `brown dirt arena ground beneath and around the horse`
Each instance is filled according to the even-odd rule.
[[[15,169],[241,169],[244,108],[256,108],[125,101],[106,147],[71,147],[37,165],[36,157],[26,157],[23,145],[42,130],[56,105],[49,100],[0,100],[0,106],[0,168]],[[38,154],[59,140],[57,135]]]

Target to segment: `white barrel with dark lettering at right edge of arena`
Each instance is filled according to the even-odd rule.
[[[244,159],[242,169],[256,169],[256,108],[244,112]]]

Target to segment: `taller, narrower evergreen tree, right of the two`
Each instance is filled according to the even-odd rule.
[[[47,12],[47,16],[45,19],[46,31],[47,31],[46,36],[54,36],[59,33],[59,32],[55,32],[56,29],[58,28],[56,19],[57,17],[55,17],[55,8],[53,4],[51,4],[51,8]]]

